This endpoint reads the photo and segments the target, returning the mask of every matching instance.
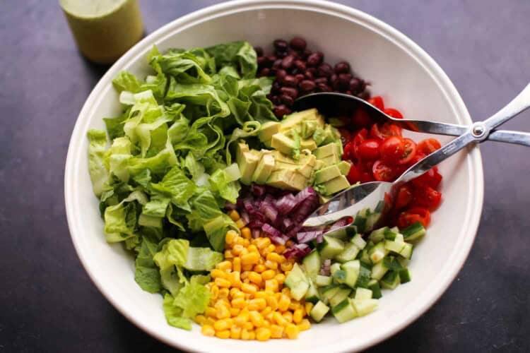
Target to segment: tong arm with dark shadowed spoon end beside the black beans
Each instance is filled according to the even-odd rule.
[[[317,108],[324,116],[352,116],[357,109],[364,109],[375,121],[381,123],[388,121],[406,130],[449,136],[461,136],[469,131],[469,126],[465,125],[414,119],[396,119],[385,114],[365,100],[354,97],[353,95],[345,95],[344,93],[321,92],[305,95],[295,100],[293,108],[296,111]],[[530,133],[519,131],[492,129],[487,139],[530,146]]]

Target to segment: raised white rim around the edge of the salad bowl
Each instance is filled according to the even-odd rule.
[[[356,23],[360,23],[360,25],[364,25],[365,27],[370,28],[370,30],[375,30],[379,33],[379,35],[384,35],[388,40],[391,40],[391,42],[401,47],[401,49],[404,49],[404,51],[408,52],[408,54],[413,54],[412,57],[418,61],[418,64],[423,66],[423,68],[425,68],[425,70],[428,71],[431,76],[433,76],[432,78],[439,86],[441,92],[453,105],[455,112],[458,112],[459,116],[462,116],[464,120],[462,122],[464,124],[471,124],[469,112],[466,109],[464,101],[461,99],[459,92],[454,87],[454,84],[451,80],[449,80],[447,74],[444,73],[442,68],[440,68],[434,59],[432,59],[421,47],[419,47],[418,44],[406,37],[406,35],[399,32],[399,30],[396,30],[387,23],[384,23],[382,20],[378,20],[377,18],[358,9],[341,4],[322,0],[233,0],[222,4],[208,6],[206,8],[201,8],[198,11],[194,11],[185,16],[172,20],[170,23],[163,25],[150,35],[147,35],[145,38],[143,38],[143,40],[129,49],[129,51],[126,52],[126,54],[124,54],[118,61],[116,61],[111,68],[109,68],[107,73],[102,76],[98,84],[95,85],[93,90],[90,92],[85,104],[83,104],[83,108],[78,115],[71,139],[69,141],[64,174],[64,199],[66,206],[66,218],[71,239],[73,241],[73,246],[76,249],[76,253],[81,260],[83,268],[85,268],[86,272],[88,273],[90,280],[92,280],[94,285],[99,289],[104,297],[110,301],[112,306],[122,313],[122,315],[125,316],[129,321],[134,323],[134,325],[136,325],[138,328],[141,328],[141,330],[144,332],[162,342],[165,342],[167,345],[171,345],[172,347],[178,347],[181,349],[196,349],[196,342],[194,342],[194,345],[190,345],[189,342],[191,341],[189,340],[181,340],[180,342],[170,340],[165,335],[158,333],[158,331],[154,330],[149,325],[146,325],[146,323],[137,318],[135,314],[127,312],[124,305],[114,299],[112,291],[105,287],[105,285],[91,269],[90,261],[88,260],[85,252],[83,251],[83,247],[81,246],[80,238],[76,235],[76,229],[78,229],[79,223],[73,210],[73,195],[75,193],[73,193],[72,189],[74,185],[73,181],[76,180],[76,165],[78,163],[77,155],[81,152],[81,139],[85,138],[84,132],[88,127],[88,119],[86,119],[86,116],[89,115],[90,109],[92,109],[93,105],[97,102],[98,97],[102,91],[105,90],[105,87],[112,81],[112,78],[116,75],[117,71],[126,66],[127,63],[136,59],[137,56],[143,54],[146,48],[151,47],[153,42],[158,42],[167,35],[171,35],[172,31],[174,30],[186,28],[198,23],[203,23],[204,21],[210,20],[211,18],[218,18],[240,11],[255,11],[270,8],[290,8],[326,13],[331,16],[355,20]],[[437,285],[433,286],[432,293],[426,299],[423,299],[423,302],[420,302],[420,305],[416,306],[416,309],[411,315],[407,316],[401,321],[398,321],[395,325],[392,325],[391,328],[379,333],[379,335],[372,338],[371,340],[365,340],[365,342],[361,342],[360,344],[348,345],[348,340],[343,340],[341,342],[339,341],[336,344],[329,346],[331,352],[339,350],[366,349],[367,347],[375,345],[382,340],[387,339],[391,335],[398,333],[400,330],[403,330],[406,328],[406,326],[410,325],[413,321],[416,321],[420,315],[425,313],[425,311],[435,304],[435,302],[440,299],[442,294],[447,290],[449,285],[451,285],[454,278],[457,277],[459,271],[464,265],[464,262],[466,261],[466,258],[469,255],[469,251],[471,251],[471,246],[473,245],[473,241],[476,237],[476,232],[478,230],[478,224],[480,222],[483,208],[483,167],[478,145],[474,148],[470,148],[466,162],[469,164],[471,172],[475,174],[473,178],[474,184],[471,184],[470,187],[472,188],[473,194],[475,196],[475,203],[480,207],[476,207],[471,210],[471,213],[467,217],[468,222],[466,222],[466,229],[464,230],[468,235],[466,235],[466,237],[461,240],[460,244],[458,244],[459,251],[457,252],[457,255],[452,258],[452,265],[447,268],[447,271],[444,272],[443,277],[440,277],[440,280],[437,281]]]

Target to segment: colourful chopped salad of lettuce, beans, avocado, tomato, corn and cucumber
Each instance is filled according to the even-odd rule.
[[[135,256],[134,279],[163,297],[167,323],[241,340],[294,339],[327,316],[339,323],[377,309],[382,289],[411,280],[408,261],[440,205],[436,168],[380,210],[302,227],[351,185],[392,181],[440,148],[392,124],[293,112],[297,97],[357,95],[396,118],[341,61],[276,40],[148,54],[151,75],[112,81],[123,112],[88,132],[88,165],[105,239]],[[348,226],[344,228],[344,226]],[[340,228],[334,231],[334,228]]]

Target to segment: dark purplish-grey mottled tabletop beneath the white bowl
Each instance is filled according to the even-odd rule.
[[[66,150],[106,68],[78,54],[57,2],[0,2],[0,352],[171,352],[102,297],[70,240]],[[146,32],[216,2],[141,1]],[[473,119],[530,82],[529,0],[341,2],[420,44]],[[530,131],[530,112],[504,127]],[[530,352],[530,149],[485,143],[481,152],[484,209],[464,268],[372,352]]]

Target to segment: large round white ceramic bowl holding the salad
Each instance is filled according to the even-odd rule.
[[[103,117],[119,114],[111,80],[121,70],[148,73],[145,56],[153,44],[164,50],[248,40],[270,50],[272,40],[294,35],[302,35],[310,48],[326,53],[329,63],[350,61],[355,72],[370,80],[372,92],[406,116],[471,123],[459,93],[428,54],[389,25],[346,6],[322,1],[233,1],[179,18],[142,40],[103,76],[78,116],[66,160],[66,213],[78,256],[102,294],[139,328],[174,347],[306,353],[364,349],[398,332],[434,304],[473,244],[483,201],[481,155],[476,148],[442,164],[444,201],[432,215],[428,236],[414,249],[413,280],[384,293],[375,313],[342,325],[329,318],[312,325],[298,340],[266,343],[219,340],[201,335],[199,326],[189,332],[167,325],[160,295],[143,292],[134,282],[131,257],[120,245],[105,243],[88,176],[86,132],[103,128]]]

